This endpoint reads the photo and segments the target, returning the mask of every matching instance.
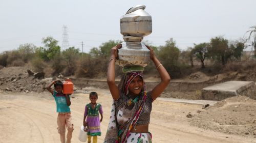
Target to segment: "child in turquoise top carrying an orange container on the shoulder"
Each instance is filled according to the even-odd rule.
[[[54,84],[54,90],[51,89]],[[68,129],[67,133],[67,143],[71,142],[72,132],[74,130],[72,124],[72,117],[70,112],[70,95],[62,93],[63,84],[61,81],[56,80],[53,81],[50,85],[48,85],[47,90],[53,95],[56,108],[58,112],[57,124],[58,124],[58,133],[60,134],[61,143],[65,143],[65,132],[66,128]],[[65,128],[66,127],[66,128]]]

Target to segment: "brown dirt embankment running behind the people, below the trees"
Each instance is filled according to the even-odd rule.
[[[207,76],[202,72],[193,73],[183,79],[172,80],[161,97],[165,98],[181,98],[181,99],[202,99],[201,89],[221,83],[228,80],[240,80],[244,75],[238,72],[227,72],[215,76]],[[0,70],[0,91],[6,92],[43,92],[46,86],[52,81],[52,78],[35,78],[28,73],[25,67],[8,67]],[[76,89],[82,90],[86,87],[97,87],[100,89],[108,89],[106,79],[88,79],[88,78],[72,78]],[[145,78],[146,88],[152,89],[158,84],[160,78]],[[116,84],[118,84],[118,79]]]

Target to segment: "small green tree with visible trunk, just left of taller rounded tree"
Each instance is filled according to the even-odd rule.
[[[208,57],[208,49],[209,49],[209,43],[200,43],[195,44],[195,47],[192,50],[192,53],[196,55],[197,59],[200,60],[202,67],[204,66],[204,60]]]

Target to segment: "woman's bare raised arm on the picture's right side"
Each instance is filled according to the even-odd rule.
[[[159,62],[156,55],[154,54],[154,50],[150,46],[146,46],[151,51],[151,60],[154,62],[158,73],[161,78],[161,82],[156,85],[156,87],[151,91],[151,96],[155,100],[167,87],[170,82],[170,76],[168,72],[165,70],[163,65]]]

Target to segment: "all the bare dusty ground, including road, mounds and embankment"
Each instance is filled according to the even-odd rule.
[[[245,75],[228,72],[209,77],[196,72],[184,79],[172,80],[161,97],[200,99],[201,88],[230,79],[247,79]],[[44,88],[51,81],[52,78],[37,79],[29,76],[25,67],[0,70],[0,143],[59,142],[56,105],[53,97],[44,92]],[[146,77],[150,88],[158,81],[157,77]],[[89,102],[88,93],[96,91],[99,93],[98,102],[104,110],[102,136],[98,141],[102,142],[112,103],[109,91],[103,90],[107,89],[105,78],[79,79],[76,83],[77,93],[72,95],[71,105],[75,125],[72,141],[80,142],[78,134],[84,105]],[[243,96],[225,99],[206,109],[198,104],[156,100],[153,103],[150,131],[153,142],[160,143],[256,142],[255,112],[255,100]],[[191,118],[186,117],[188,113]]]

